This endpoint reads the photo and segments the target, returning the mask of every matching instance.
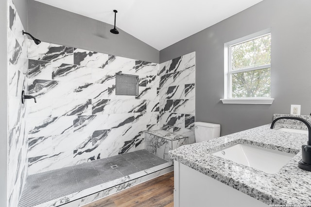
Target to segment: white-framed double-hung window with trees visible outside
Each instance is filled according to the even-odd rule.
[[[271,33],[257,32],[225,44],[225,99],[269,104],[271,87]],[[255,101],[259,100],[259,101]],[[265,100],[262,103],[262,100]],[[269,102],[269,101],[268,101]],[[271,102],[272,103],[272,102]],[[270,104],[271,104],[270,103]]]

